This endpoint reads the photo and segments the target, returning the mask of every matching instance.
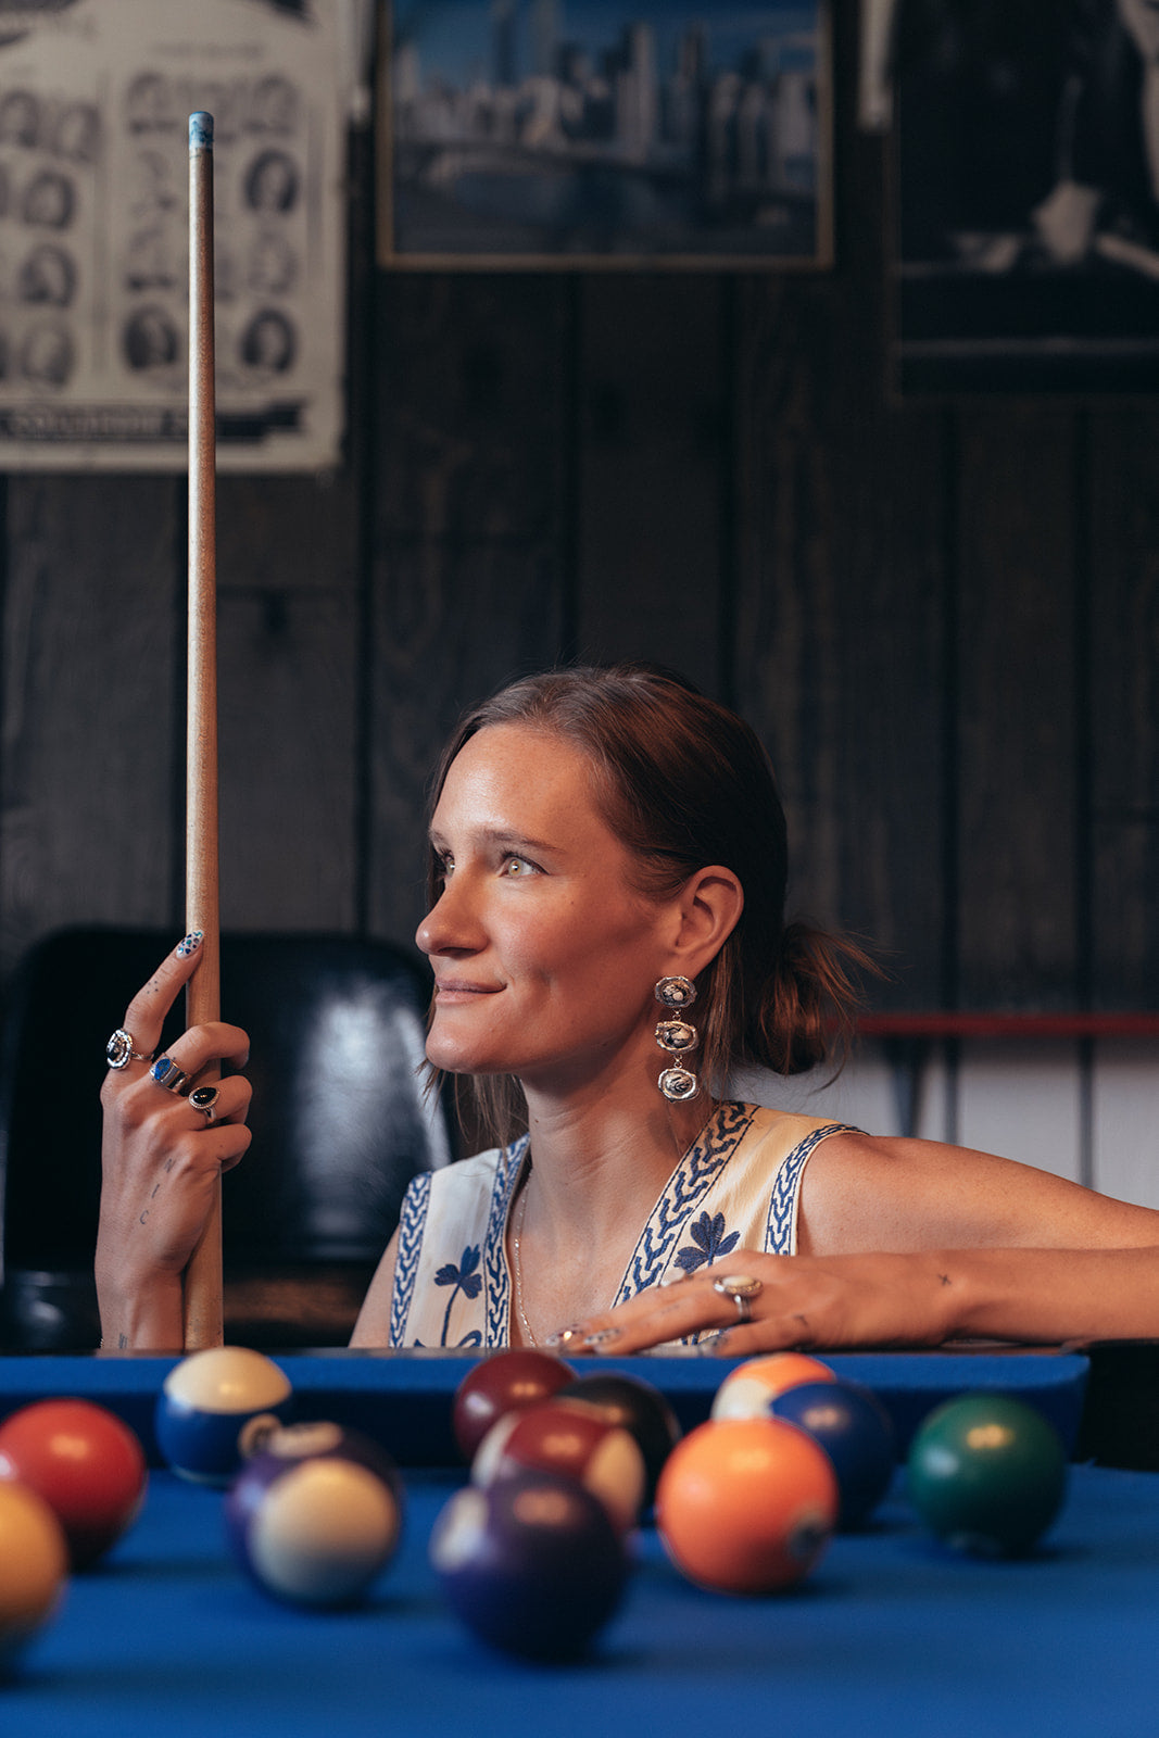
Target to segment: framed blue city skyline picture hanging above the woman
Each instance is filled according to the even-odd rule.
[[[379,261],[831,261],[827,0],[389,0]]]

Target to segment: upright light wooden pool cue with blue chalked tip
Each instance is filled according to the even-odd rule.
[[[189,1025],[221,1018],[217,905],[217,530],[214,400],[214,116],[189,115],[189,692],[186,732],[186,928],[202,961]],[[214,1076],[217,1078],[217,1076]],[[207,1076],[209,1079],[209,1076]],[[184,1277],[184,1349],[221,1345],[221,1177]]]

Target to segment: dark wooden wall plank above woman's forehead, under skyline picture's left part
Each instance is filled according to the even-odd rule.
[[[365,907],[374,933],[405,944],[426,907],[426,791],[447,733],[565,650],[566,335],[558,280],[381,285]]]

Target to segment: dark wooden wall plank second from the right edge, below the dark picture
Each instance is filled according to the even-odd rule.
[[[959,412],[959,985],[1067,1006],[1079,961],[1074,412]]]

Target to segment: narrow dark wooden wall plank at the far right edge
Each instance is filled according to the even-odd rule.
[[[1159,992],[1159,412],[1091,428],[1091,977],[1100,1006]]]

